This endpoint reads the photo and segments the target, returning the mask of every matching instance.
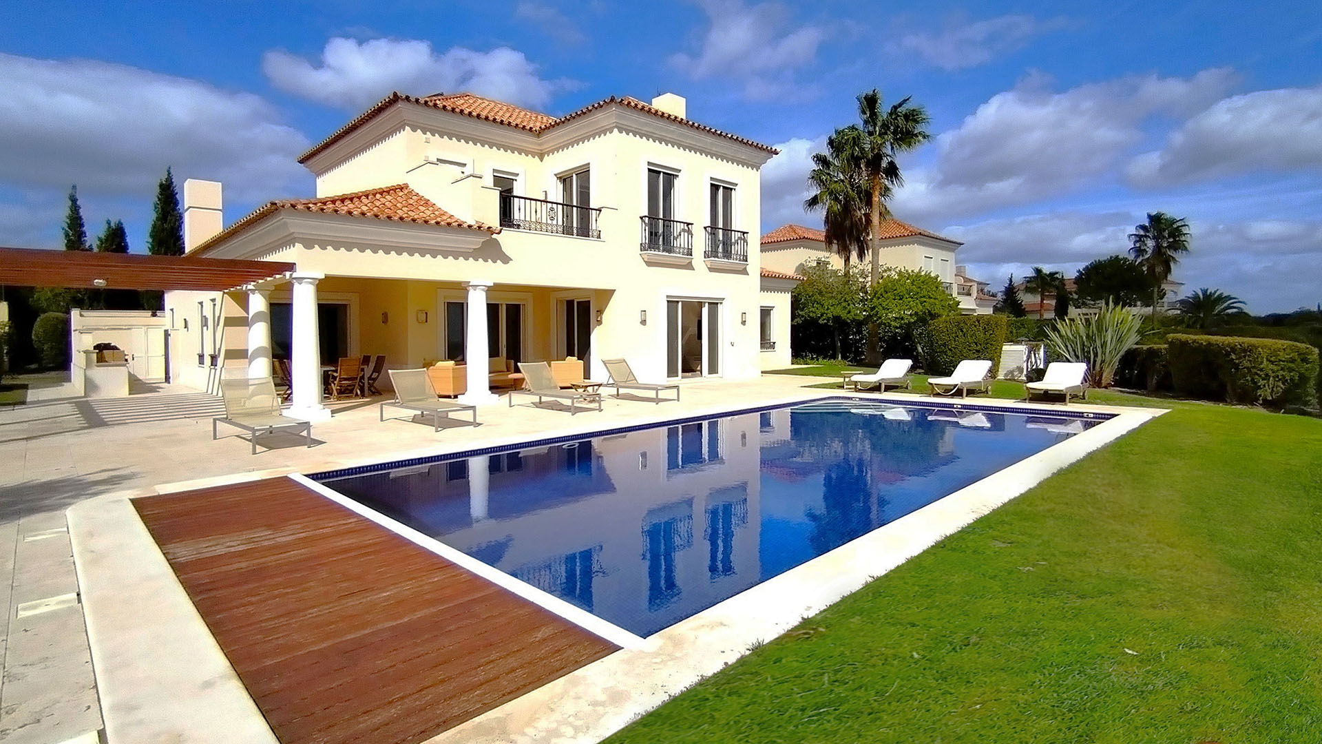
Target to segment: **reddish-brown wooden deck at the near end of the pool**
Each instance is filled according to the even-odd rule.
[[[412,744],[615,650],[274,478],[134,506],[284,744]]]

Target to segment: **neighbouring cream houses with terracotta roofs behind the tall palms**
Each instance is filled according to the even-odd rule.
[[[988,283],[970,279],[965,267],[954,263],[954,252],[961,245],[960,241],[891,218],[882,224],[880,263],[936,274],[947,291],[960,301],[960,312],[965,315],[992,312],[995,295],[986,291]],[[822,230],[791,224],[761,236],[763,269],[798,273],[820,261],[834,269],[845,266],[845,259],[826,246]],[[853,265],[866,270],[871,265],[871,252]]]

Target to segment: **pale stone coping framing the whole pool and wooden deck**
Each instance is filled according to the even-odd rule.
[[[954,496],[982,486],[992,478],[1002,477],[1010,470],[1035,461],[1035,458],[1048,453],[1059,453],[1060,447],[1068,445],[1073,445],[1071,447],[1073,453],[1081,443],[1091,442],[1089,446],[1068,458],[1062,458],[1059,463],[1042,463],[1038,467],[1042,470],[1040,473],[1035,475],[1030,473],[1031,478],[1023,477],[1025,482],[1018,486],[1018,490],[1007,491],[1003,499],[997,499],[982,511],[953,520],[947,519],[944,527],[936,528],[935,532],[929,530],[931,536],[924,537],[925,541],[921,544],[910,545],[907,552],[903,549],[892,552],[894,555],[883,561],[892,561],[891,565],[883,567],[882,563],[878,563],[859,573],[855,567],[845,563],[849,556],[854,556],[853,560],[857,564],[858,555],[862,555],[858,551],[865,544],[875,541],[869,541],[867,537],[890,527],[883,526],[830,553],[818,556],[658,631],[640,647],[623,649],[580,667],[578,671],[533,692],[459,724],[427,740],[427,744],[514,740],[599,741],[683,688],[699,682],[703,676],[719,671],[723,666],[748,653],[760,641],[784,633],[802,617],[814,614],[857,590],[870,579],[886,573],[937,539],[957,531],[977,516],[1019,495],[1059,467],[1118,438],[1142,422],[1166,413],[1166,409],[1129,406],[1075,404],[1063,408],[1010,400],[966,402],[903,393],[853,395],[805,388],[768,396],[767,404],[748,410],[765,410],[787,404],[808,404],[830,398],[884,401],[896,405],[945,409],[1013,410],[1054,417],[1068,416],[1073,412],[1100,413],[1113,416],[1113,418],[890,523],[910,524],[919,515],[931,514],[929,510],[933,506],[944,502],[953,503]],[[660,417],[629,428],[645,429],[668,421],[697,421],[736,413],[713,405],[685,417]],[[591,424],[575,426],[576,424],[579,422],[566,422],[566,429],[574,429],[563,436],[567,441],[598,436],[596,432],[600,430],[594,429]],[[1107,436],[1096,436],[1096,432],[1105,432]],[[526,446],[526,438],[512,434],[494,438],[488,447],[481,449],[500,450],[510,446]],[[444,449],[444,445],[440,445],[440,449]],[[430,455],[423,459],[447,459],[456,457],[459,451],[461,450],[456,449],[452,453]],[[379,465],[379,462],[369,462],[369,459],[371,458],[364,458],[360,465],[349,467]],[[293,467],[272,467],[263,471],[164,483],[95,496],[67,511],[70,539],[91,642],[93,666],[106,723],[104,731],[110,741],[168,737],[189,744],[227,743],[235,740],[235,733],[241,733],[245,741],[275,741],[266,725],[266,719],[210,635],[160,548],[136,518],[128,499],[292,474],[296,474]],[[828,560],[832,564],[821,563]],[[833,567],[833,564],[842,565]],[[135,571],[124,572],[124,565],[134,565]],[[839,577],[832,577],[833,580],[825,585],[814,580],[817,585],[808,585],[804,590],[818,592],[820,596],[814,601],[796,605],[797,609],[787,608],[783,598],[775,594],[773,588],[795,590],[796,584],[792,579],[800,576],[796,572],[805,567],[818,567],[826,573],[839,572]],[[730,604],[740,598],[743,598],[742,604]],[[764,614],[728,616],[731,610],[748,612],[748,608],[756,609],[763,605],[773,610],[775,617]],[[141,622],[141,613],[145,608],[151,609],[155,618],[151,624]],[[746,609],[740,610],[739,608]],[[163,638],[168,642],[161,642]]]

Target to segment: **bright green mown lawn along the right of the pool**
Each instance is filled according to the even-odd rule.
[[[1317,741],[1322,421],[1170,408],[608,741]]]

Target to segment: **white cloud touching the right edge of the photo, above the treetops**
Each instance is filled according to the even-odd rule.
[[[1259,90],[1218,101],[1134,158],[1138,185],[1167,185],[1252,172],[1322,165],[1322,86]]]

